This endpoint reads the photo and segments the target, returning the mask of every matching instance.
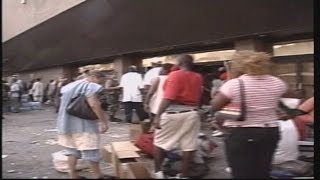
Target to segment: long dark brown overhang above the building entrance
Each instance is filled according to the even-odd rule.
[[[233,41],[313,38],[313,0],[88,0],[3,43],[26,71],[232,48]]]

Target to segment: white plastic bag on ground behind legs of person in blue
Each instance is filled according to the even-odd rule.
[[[54,169],[59,172],[68,172],[68,156],[64,155],[63,151],[52,153]],[[76,170],[89,168],[89,164],[83,159],[78,159]]]

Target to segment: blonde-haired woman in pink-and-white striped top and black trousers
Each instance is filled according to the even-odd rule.
[[[241,104],[240,82],[243,84],[246,110],[242,121],[226,119],[225,148],[233,178],[270,178],[271,162],[279,130],[276,109],[286,84],[271,75],[270,56],[263,52],[239,51],[232,59],[233,76],[222,85],[211,101],[214,111],[228,103]],[[231,71],[232,72],[232,71]]]

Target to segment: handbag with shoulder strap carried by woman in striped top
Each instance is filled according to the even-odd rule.
[[[238,79],[240,85],[240,107],[239,105],[229,103],[220,111],[215,113],[217,119],[244,121],[246,114],[246,99],[244,94],[244,85],[242,79]]]

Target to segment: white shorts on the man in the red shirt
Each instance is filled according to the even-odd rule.
[[[155,131],[154,145],[170,151],[177,145],[182,151],[195,151],[200,131],[200,116],[197,111],[161,116],[160,127]]]

